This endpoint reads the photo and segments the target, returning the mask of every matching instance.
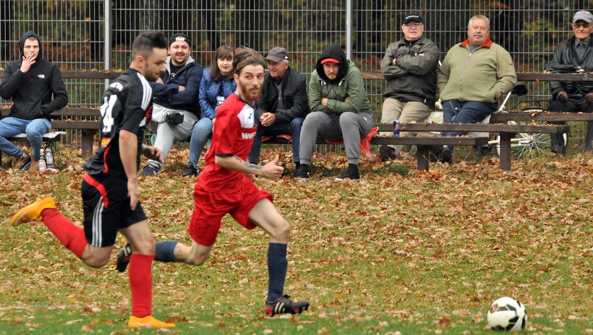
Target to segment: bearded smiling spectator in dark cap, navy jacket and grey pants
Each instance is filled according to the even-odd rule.
[[[173,148],[174,141],[186,141],[192,135],[193,125],[200,118],[197,101],[202,80],[202,66],[190,56],[192,44],[186,34],[173,34],[169,38],[166,71],[156,82],[151,82],[152,131],[157,132],[154,146],[162,152],[162,160]],[[149,159],[141,174],[157,174],[162,167],[160,161]]]

